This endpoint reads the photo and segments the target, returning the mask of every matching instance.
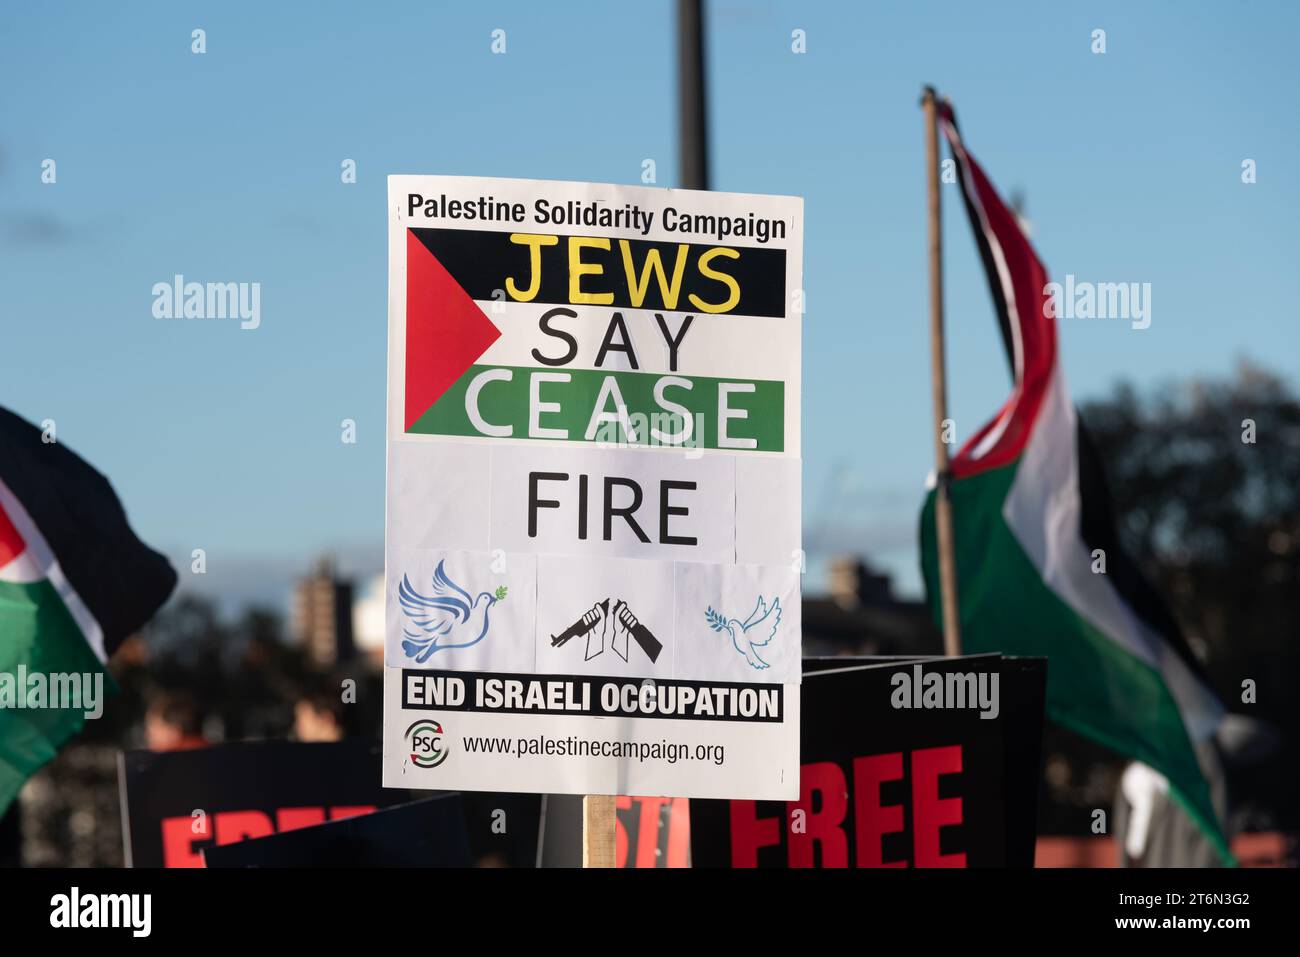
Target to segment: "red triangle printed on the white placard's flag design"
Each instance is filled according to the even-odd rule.
[[[498,338],[500,329],[408,229],[404,432]]]

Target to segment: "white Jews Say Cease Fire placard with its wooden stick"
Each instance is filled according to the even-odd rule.
[[[802,220],[389,178],[385,785],[797,794]]]

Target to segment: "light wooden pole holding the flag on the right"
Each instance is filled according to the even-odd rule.
[[[926,113],[926,191],[930,215],[930,381],[935,406],[935,527],[939,540],[939,590],[944,612],[944,654],[962,653],[957,607],[957,558],[953,551],[953,502],[948,471],[948,380],[944,371],[944,239],[939,204],[939,104],[927,86],[920,99]]]

